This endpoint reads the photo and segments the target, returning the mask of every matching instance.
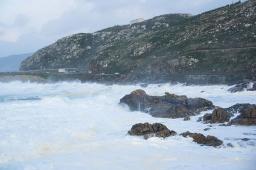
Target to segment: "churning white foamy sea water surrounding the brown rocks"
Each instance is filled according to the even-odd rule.
[[[256,104],[256,92],[230,94],[225,85],[102,85],[0,83],[0,169],[256,169],[256,127],[220,127],[196,122],[200,115],[154,118],[119,103],[143,89],[149,95],[170,92],[204,97],[216,106]],[[205,91],[205,92],[202,92]],[[236,117],[237,115],[235,115]],[[214,148],[191,138],[129,136],[136,123],[159,122],[176,131],[200,132],[223,141]],[[243,138],[250,140],[243,141]],[[226,147],[232,143],[234,148]]]

